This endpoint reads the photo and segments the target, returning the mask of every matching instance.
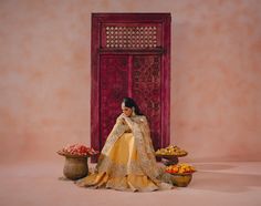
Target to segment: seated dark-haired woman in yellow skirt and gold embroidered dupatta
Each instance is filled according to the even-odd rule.
[[[133,192],[171,188],[160,179],[163,169],[156,163],[146,117],[130,97],[123,100],[122,110],[101,152],[96,172],[76,184]]]

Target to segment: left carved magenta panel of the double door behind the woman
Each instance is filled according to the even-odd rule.
[[[115,120],[121,113],[123,96],[128,91],[128,56],[102,55],[101,56],[101,106],[100,106],[100,134],[101,144],[104,145]]]

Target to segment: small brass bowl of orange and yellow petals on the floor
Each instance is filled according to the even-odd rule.
[[[173,185],[186,187],[191,182],[192,173],[195,173],[196,169],[187,163],[180,163],[167,166],[165,172],[171,175]]]

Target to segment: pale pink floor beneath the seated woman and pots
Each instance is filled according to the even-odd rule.
[[[188,187],[153,193],[88,189],[61,181],[63,163],[0,166],[0,206],[261,206],[261,162],[194,163]]]

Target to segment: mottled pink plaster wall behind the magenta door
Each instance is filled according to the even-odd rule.
[[[90,144],[92,12],[171,12],[171,143],[261,159],[259,0],[1,0],[0,162]]]

